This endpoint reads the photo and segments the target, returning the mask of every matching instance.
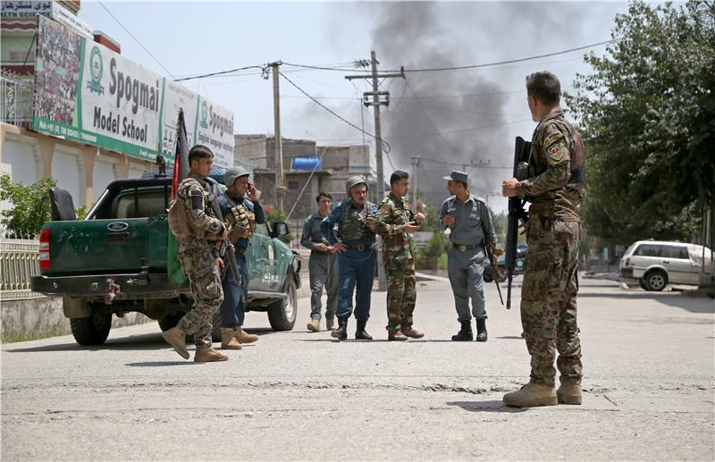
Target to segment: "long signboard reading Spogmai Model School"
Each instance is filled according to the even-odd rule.
[[[173,162],[183,108],[189,140],[233,165],[233,113],[109,48],[38,20],[34,130],[153,161]]]

